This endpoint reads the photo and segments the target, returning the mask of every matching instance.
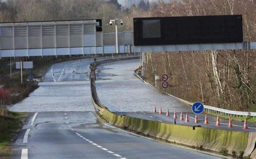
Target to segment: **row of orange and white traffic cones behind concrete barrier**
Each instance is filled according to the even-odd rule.
[[[153,112],[154,112],[154,113],[157,112],[155,105],[154,105],[154,110],[153,110]],[[163,111],[162,111],[162,108],[161,108],[161,107],[160,107],[160,110],[159,110],[159,114],[163,114]],[[167,108],[166,117],[169,117],[169,116],[170,116],[170,113],[169,113],[169,109]],[[176,111],[174,111],[173,119],[177,119],[177,118],[178,118],[178,117],[177,117],[177,113],[176,113]],[[180,121],[183,121],[183,120],[184,120],[184,119],[183,119],[183,113],[182,113],[182,112],[180,113],[180,119],[179,119],[179,120],[180,120]],[[187,113],[186,113],[186,120],[185,120],[185,122],[189,122]],[[195,119],[194,119],[194,123],[195,123],[195,124],[199,123],[199,121],[198,121],[198,115],[197,115],[197,114],[196,114],[196,117],[195,117]],[[207,118],[207,114],[205,114],[205,121],[204,121],[204,124],[206,124],[206,125],[209,124],[208,118]],[[216,126],[220,126],[219,116],[217,116]],[[229,128],[232,128],[232,127],[233,127],[231,117],[230,117],[230,120],[229,120],[229,122],[228,122],[228,127],[229,127]],[[246,119],[245,119],[245,121],[244,121],[244,129],[248,129]]]

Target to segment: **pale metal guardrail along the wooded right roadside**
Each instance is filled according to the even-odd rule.
[[[143,77],[141,77],[140,75],[138,75],[138,69],[134,70],[134,75],[136,77],[138,77],[140,80],[142,80],[144,83],[152,86],[153,88],[156,89],[155,86],[153,86],[152,84],[150,84],[149,82],[147,82]],[[192,102],[188,102],[184,99],[180,99],[178,97],[175,97],[169,93],[166,93],[164,92],[166,95],[169,95],[169,96],[172,96],[176,99],[179,99],[181,102],[184,102],[188,105],[193,105]],[[205,108],[205,112],[208,112],[208,113],[216,113],[218,115],[228,115],[230,117],[252,117],[252,118],[255,118],[256,117],[256,112],[241,112],[241,111],[231,111],[231,110],[225,110],[225,109],[221,109],[221,108],[218,108],[218,107],[213,107],[213,106],[208,106],[208,105],[204,105],[204,108]]]

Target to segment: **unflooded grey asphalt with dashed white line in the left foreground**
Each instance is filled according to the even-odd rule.
[[[32,113],[12,154],[22,159],[187,157],[217,158],[102,125],[92,112]]]

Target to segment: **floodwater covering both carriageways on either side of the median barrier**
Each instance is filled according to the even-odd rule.
[[[95,111],[90,95],[87,66],[91,59],[54,64],[39,88],[21,103],[9,107],[17,112]],[[191,111],[179,100],[144,84],[133,75],[138,60],[105,63],[97,68],[99,99],[111,111],[152,112],[153,105],[163,111]]]

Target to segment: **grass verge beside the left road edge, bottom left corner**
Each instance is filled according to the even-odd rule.
[[[12,144],[28,119],[29,113],[8,112],[0,115],[0,158],[10,158]]]

